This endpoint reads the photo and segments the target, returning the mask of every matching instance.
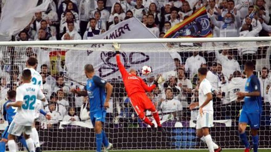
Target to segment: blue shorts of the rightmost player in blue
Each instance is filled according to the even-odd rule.
[[[261,124],[261,115],[257,113],[248,114],[245,111],[241,111],[239,123],[247,123],[250,128],[259,129]]]

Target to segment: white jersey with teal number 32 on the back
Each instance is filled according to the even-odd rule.
[[[16,89],[16,101],[22,101],[14,117],[15,123],[23,126],[31,126],[35,119],[36,100],[44,99],[38,85],[25,83]]]

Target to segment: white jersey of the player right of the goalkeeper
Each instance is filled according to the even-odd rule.
[[[208,93],[212,93],[212,85],[207,79],[204,79],[201,81],[199,87],[199,106],[201,106],[205,102],[207,98],[206,94]],[[207,105],[205,105],[202,110],[203,113],[209,113],[213,115],[213,100],[211,100]]]

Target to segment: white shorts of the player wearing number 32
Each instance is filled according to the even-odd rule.
[[[32,126],[23,126],[12,121],[7,132],[14,136],[21,136],[23,132],[30,135],[32,133]]]

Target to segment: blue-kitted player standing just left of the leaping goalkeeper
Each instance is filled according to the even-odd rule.
[[[86,64],[84,69],[88,78],[85,89],[83,91],[73,89],[72,92],[83,96],[88,95],[91,123],[95,126],[96,151],[101,152],[103,144],[104,152],[107,152],[113,145],[108,142],[106,134],[102,129],[102,124],[105,121],[106,109],[109,108],[109,99],[112,94],[113,86],[100,77],[95,76],[94,68],[91,64]]]

